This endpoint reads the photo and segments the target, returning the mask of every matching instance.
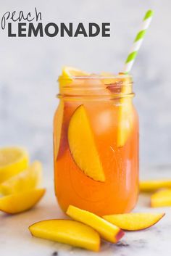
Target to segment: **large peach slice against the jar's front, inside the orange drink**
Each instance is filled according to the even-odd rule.
[[[68,142],[72,157],[80,170],[95,181],[105,181],[93,131],[83,105],[75,110],[70,119]]]

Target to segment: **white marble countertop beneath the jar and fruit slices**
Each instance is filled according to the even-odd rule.
[[[170,168],[162,171],[161,168],[150,170],[143,175],[151,178],[170,177]],[[54,197],[51,182],[47,183],[46,196],[41,202],[28,212],[19,215],[5,215],[0,213],[0,255],[3,256],[65,256],[65,255],[97,255],[83,249],[58,244],[53,241],[38,239],[30,236],[28,226],[48,218],[66,218],[59,209]],[[140,195],[135,212],[166,212],[164,218],[155,226],[144,231],[125,232],[125,236],[118,244],[102,242],[101,256],[170,256],[171,237],[171,207],[155,208],[149,207],[149,196]]]

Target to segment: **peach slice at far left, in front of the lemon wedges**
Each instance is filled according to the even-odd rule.
[[[35,206],[43,197],[45,189],[32,189],[0,198],[0,210],[9,214],[24,212]]]

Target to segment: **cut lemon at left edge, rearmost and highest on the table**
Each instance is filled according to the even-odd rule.
[[[20,147],[0,148],[0,183],[28,168],[28,152]]]

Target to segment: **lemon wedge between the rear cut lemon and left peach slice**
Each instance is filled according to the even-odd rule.
[[[35,161],[28,169],[23,170],[7,181],[0,184],[0,193],[4,195],[16,194],[30,189],[35,189],[41,185],[42,165],[41,162]]]

